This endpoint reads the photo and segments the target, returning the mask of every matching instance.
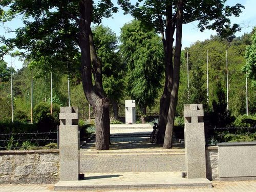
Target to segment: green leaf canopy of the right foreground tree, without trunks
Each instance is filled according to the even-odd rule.
[[[166,27],[164,22],[165,16],[172,14],[171,10],[177,10],[177,1],[137,1],[135,5],[130,2],[130,0],[118,1],[126,13],[130,12],[136,19],[142,20],[146,26],[154,27],[157,32],[162,32],[162,28]],[[228,17],[231,15],[239,16],[244,6],[241,4],[224,6],[225,2],[224,0],[193,0],[184,2],[183,24],[198,20],[198,28],[201,32],[205,29],[212,29],[216,30],[221,36],[229,37],[239,30],[239,26],[237,24],[230,26],[230,19]],[[173,16],[175,17],[176,15],[173,14]]]

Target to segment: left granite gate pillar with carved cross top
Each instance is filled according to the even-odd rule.
[[[78,107],[61,107],[59,120],[60,181],[78,180],[78,175],[80,174],[80,132],[78,129]]]

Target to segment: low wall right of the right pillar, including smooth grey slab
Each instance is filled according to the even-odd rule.
[[[206,147],[206,177],[219,181],[255,180],[256,142]]]

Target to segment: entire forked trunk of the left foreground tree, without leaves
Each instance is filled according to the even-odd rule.
[[[81,73],[83,91],[95,111],[96,150],[109,150],[110,115],[109,99],[105,98],[102,88],[101,66],[97,59],[91,34],[92,0],[79,2],[78,41],[81,50]],[[93,67],[92,67],[93,63]],[[92,70],[93,69],[93,70]],[[92,72],[94,71],[94,84]]]

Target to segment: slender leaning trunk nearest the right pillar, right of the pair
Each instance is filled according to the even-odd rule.
[[[183,0],[179,0],[178,10],[177,10],[177,27],[176,27],[177,31],[176,31],[176,45],[175,45],[175,56],[174,56],[173,87],[172,87],[172,93],[170,94],[170,105],[168,110],[163,148],[172,147],[173,128],[174,128],[175,112],[176,112],[176,106],[178,101],[178,90],[179,90],[179,82],[180,82],[182,17],[183,17]]]

